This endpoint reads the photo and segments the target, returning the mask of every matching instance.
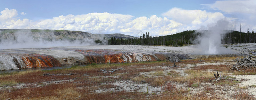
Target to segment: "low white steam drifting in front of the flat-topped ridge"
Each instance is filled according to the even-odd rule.
[[[3,39],[3,37],[5,37],[5,39]],[[74,40],[58,39],[54,35],[54,32],[35,34],[30,30],[20,30],[15,33],[2,34],[2,36],[0,36],[0,49],[99,45],[94,42],[94,39],[79,37],[82,36],[78,36]]]

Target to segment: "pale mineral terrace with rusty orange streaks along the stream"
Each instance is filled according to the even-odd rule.
[[[0,50],[0,70],[92,63],[158,61],[166,60],[173,55],[169,52],[111,50],[94,48],[93,46],[4,49]],[[185,54],[178,54],[178,56],[181,59],[189,58]]]

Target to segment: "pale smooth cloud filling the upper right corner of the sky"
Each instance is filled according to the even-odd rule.
[[[243,32],[247,32],[248,26],[249,31],[256,27],[256,0],[221,0],[201,5],[235,16],[237,18],[237,23],[234,23],[236,30],[240,30],[240,24]]]

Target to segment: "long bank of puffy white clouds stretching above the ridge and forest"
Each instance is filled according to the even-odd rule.
[[[0,15],[0,29],[64,29],[98,34],[122,33],[133,36],[142,30],[156,36],[174,34],[186,30],[197,30],[201,26],[214,24],[223,18],[229,21],[234,20],[234,18],[225,17],[220,12],[184,10],[180,8],[172,8],[162,15],[164,17],[152,15],[150,17],[141,16],[136,18],[132,15],[105,12],[60,15],[49,19],[32,21],[26,18],[18,19],[17,10],[5,8]]]

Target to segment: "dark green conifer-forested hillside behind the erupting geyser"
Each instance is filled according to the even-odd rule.
[[[206,32],[207,30],[205,30]],[[222,44],[233,44],[233,43],[255,43],[256,33],[252,32],[238,32],[226,30],[221,40]],[[109,45],[165,45],[165,46],[185,46],[195,44],[194,40],[202,35],[202,31],[198,32],[195,30],[183,31],[180,33],[166,35],[166,36],[149,36],[149,32],[140,36],[139,39],[123,39],[123,38],[111,38],[108,40]]]

